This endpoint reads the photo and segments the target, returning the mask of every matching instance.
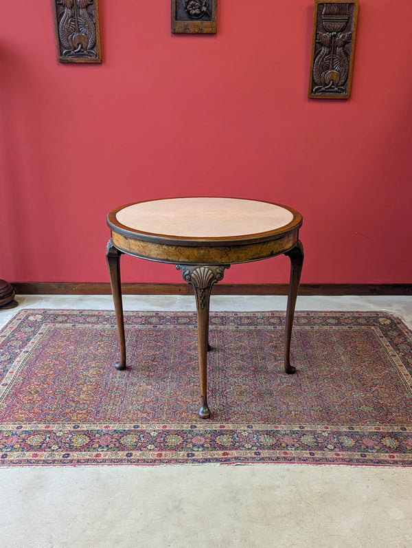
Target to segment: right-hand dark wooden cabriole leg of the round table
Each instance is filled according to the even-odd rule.
[[[292,337],[293,317],[295,316],[295,305],[297,299],[297,291],[299,289],[299,281],[304,265],[304,246],[298,240],[295,247],[285,253],[290,259],[290,282],[288,294],[288,307],[286,308],[286,325],[285,325],[285,371],[286,373],[295,373],[296,367],[290,365],[290,339]]]

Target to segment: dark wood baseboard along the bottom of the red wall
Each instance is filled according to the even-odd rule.
[[[109,283],[13,283],[20,295],[110,295]],[[187,283],[124,283],[124,295],[189,295]],[[215,295],[287,295],[286,283],[218,283]],[[302,283],[299,295],[412,295],[412,283]]]

